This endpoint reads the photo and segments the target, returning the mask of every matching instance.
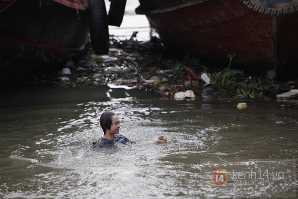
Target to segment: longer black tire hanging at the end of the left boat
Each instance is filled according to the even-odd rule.
[[[109,52],[109,28],[104,0],[89,1],[89,31],[92,48],[97,55]]]

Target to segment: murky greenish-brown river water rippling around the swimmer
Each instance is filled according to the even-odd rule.
[[[297,105],[250,102],[239,110],[233,102],[173,100],[109,87],[5,94],[0,198],[296,196]],[[107,110],[118,114],[120,133],[136,144],[89,150],[103,135],[99,117]],[[161,134],[168,142],[153,143]],[[213,169],[226,169],[224,186],[212,183]],[[252,169],[257,178],[241,180],[232,169]]]

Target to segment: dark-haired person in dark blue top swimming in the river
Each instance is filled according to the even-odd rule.
[[[113,145],[114,143],[131,143],[127,137],[120,135],[120,121],[118,116],[111,111],[106,111],[100,116],[100,126],[103,130],[103,137],[92,143],[92,149],[102,148],[104,146]],[[157,137],[155,142],[166,142],[167,138],[164,135]]]

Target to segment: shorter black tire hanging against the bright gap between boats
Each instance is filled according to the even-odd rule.
[[[120,27],[125,11],[126,0],[111,0],[108,24]]]

